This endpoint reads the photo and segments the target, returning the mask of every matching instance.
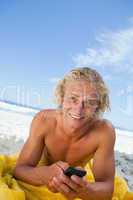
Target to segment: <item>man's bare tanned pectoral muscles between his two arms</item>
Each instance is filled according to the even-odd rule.
[[[49,138],[45,144],[45,157],[50,163],[62,160],[75,166],[92,158],[97,147],[93,137],[71,144],[59,138]]]

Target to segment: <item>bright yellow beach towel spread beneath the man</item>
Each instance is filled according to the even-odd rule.
[[[60,193],[50,192],[46,186],[33,186],[13,178],[12,172],[17,156],[0,155],[0,200],[66,200]],[[87,180],[94,182],[92,162],[88,162]],[[126,181],[116,176],[112,200],[133,200],[133,192],[129,192]],[[76,200],[79,200],[76,198]]]

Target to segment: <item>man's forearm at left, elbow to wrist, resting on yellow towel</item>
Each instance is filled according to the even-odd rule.
[[[32,185],[45,185],[48,179],[48,166],[19,166],[14,169],[14,177]]]

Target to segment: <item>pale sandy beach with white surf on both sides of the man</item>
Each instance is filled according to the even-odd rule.
[[[37,110],[0,102],[0,154],[21,150],[29,135],[30,124]],[[116,129],[116,175],[123,177],[133,191],[133,133]]]

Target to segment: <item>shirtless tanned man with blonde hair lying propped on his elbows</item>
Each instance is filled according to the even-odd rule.
[[[46,185],[67,199],[110,200],[114,191],[115,130],[101,114],[109,108],[108,90],[99,73],[75,68],[56,88],[59,109],[34,117],[14,176]],[[37,166],[43,157],[45,165]],[[64,175],[68,166],[84,167],[93,158],[94,183]]]

